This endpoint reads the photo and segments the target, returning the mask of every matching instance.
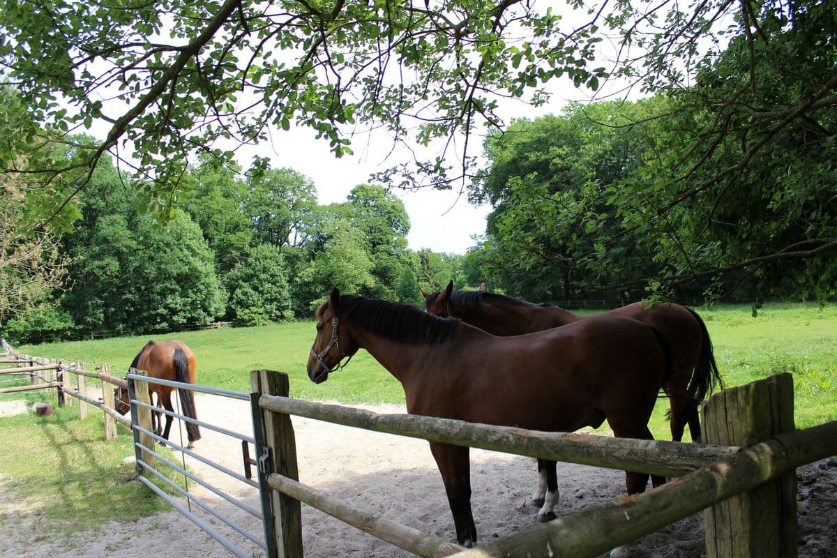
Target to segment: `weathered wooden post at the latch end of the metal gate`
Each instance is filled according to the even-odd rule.
[[[288,397],[288,375],[272,370],[250,371],[250,386],[254,393]],[[268,455],[272,470],[263,471],[265,476],[278,473],[290,479],[299,480],[296,463],[296,438],[290,416],[260,410],[264,425],[264,442],[270,448]],[[254,413],[255,414],[255,413]],[[259,425],[254,424],[254,428]],[[257,438],[258,439],[258,438]],[[257,456],[261,448],[256,448]],[[261,469],[261,463],[259,463]],[[270,508],[275,526],[276,550],[279,558],[302,558],[302,511],[300,501],[286,494],[270,490]],[[270,542],[269,542],[270,545]]]

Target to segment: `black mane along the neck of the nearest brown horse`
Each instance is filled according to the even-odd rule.
[[[454,340],[460,320],[439,318],[389,300],[343,294],[338,308],[345,320],[397,343],[433,345]]]

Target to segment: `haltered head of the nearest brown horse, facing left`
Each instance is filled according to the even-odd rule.
[[[316,338],[311,346],[311,355],[308,356],[308,377],[314,383],[320,384],[328,379],[329,373],[338,371],[346,366],[349,361],[341,364],[344,358],[352,359],[354,352],[348,353],[343,350],[347,347],[347,331],[343,329],[343,346],[339,338],[340,320],[340,291],[331,291],[331,298],[321,305],[314,314],[316,319]]]

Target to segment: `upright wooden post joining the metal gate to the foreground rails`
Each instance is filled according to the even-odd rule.
[[[258,406],[258,397],[262,394],[288,397],[288,375],[272,370],[250,371],[250,386],[252,388],[251,402]],[[276,492],[267,487],[267,476],[278,473],[290,479],[299,480],[296,463],[296,439],[294,426],[290,416],[276,412],[264,411],[254,407],[254,433],[256,439],[256,456],[259,460],[259,484],[263,487],[264,498],[270,499],[270,506],[263,506],[265,514],[268,509],[272,518],[265,517],[265,535],[268,540],[268,555],[271,552],[279,558],[302,558],[302,512],[300,501],[286,494]],[[261,422],[260,424],[258,422]],[[263,454],[263,443],[268,452]],[[269,496],[266,496],[269,494]],[[273,534],[270,531],[274,531]],[[275,549],[275,550],[274,550]]]

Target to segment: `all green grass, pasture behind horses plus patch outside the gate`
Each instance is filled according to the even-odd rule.
[[[788,371],[793,374],[797,426],[837,420],[837,305],[768,305],[757,317],[749,306],[698,311],[706,321],[727,387]],[[292,397],[350,405],[403,402],[398,381],[365,351],[346,370],[319,386],[313,384],[305,367],[314,334],[312,322],[299,322],[154,339],[179,339],[190,346],[198,358],[200,384],[249,392],[249,371],[267,368],[290,375]],[[84,361],[89,368],[106,362],[114,366],[116,376],[122,376],[149,339],[121,337],[20,346],[18,350]],[[44,399],[44,394],[33,392],[0,396],[0,401],[11,398],[50,401],[49,396]],[[655,408],[650,424],[655,438],[670,439],[667,407],[668,402],[660,400]],[[100,413],[94,410],[84,422],[74,413],[72,407],[56,408],[52,417],[34,413],[0,417],[0,477],[6,477],[5,490],[28,505],[49,509],[56,536],[62,530],[74,532],[116,519],[123,512],[138,516],[165,509],[166,504],[149,498],[143,487],[121,480],[131,473],[131,468],[120,466],[121,457],[131,454],[130,436],[120,428],[123,433],[116,444],[100,442]],[[85,487],[97,483],[105,483],[100,493],[85,494]],[[90,500],[103,504],[91,506]],[[56,502],[61,504],[55,506]]]

